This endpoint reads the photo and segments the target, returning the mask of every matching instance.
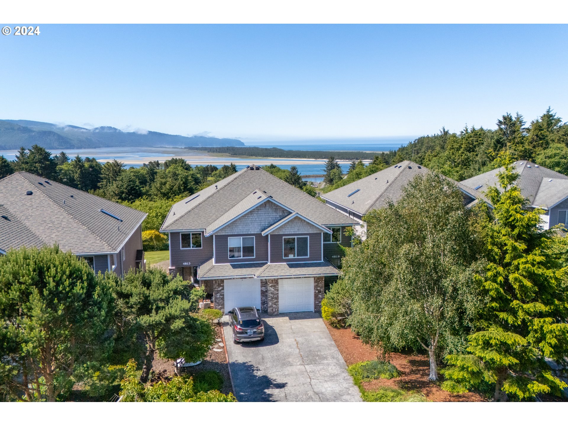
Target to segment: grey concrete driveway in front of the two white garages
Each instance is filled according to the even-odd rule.
[[[223,317],[229,369],[239,401],[361,401],[318,314],[264,314],[262,320],[264,341],[235,344],[228,318]]]

